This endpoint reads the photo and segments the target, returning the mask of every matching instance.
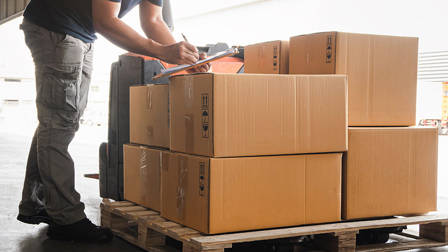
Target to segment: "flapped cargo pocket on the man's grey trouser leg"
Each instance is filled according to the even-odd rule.
[[[56,110],[78,111],[80,64],[57,64],[50,69],[51,71],[47,71],[42,80],[40,95],[42,106]]]

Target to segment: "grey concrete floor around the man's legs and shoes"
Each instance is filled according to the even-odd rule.
[[[20,124],[19,124],[20,123]],[[20,126],[19,126],[20,125]],[[5,122],[0,119],[0,232],[1,252],[143,252],[136,246],[115,237],[110,243],[83,244],[47,239],[46,224],[27,225],[17,221],[17,206],[21,197],[25,162],[34,131],[35,122]],[[76,189],[86,205],[86,214],[92,222],[100,222],[98,180],[84,178],[85,173],[98,172],[98,147],[107,138],[107,126],[82,125],[70,146],[70,154],[76,163]],[[448,136],[444,139],[447,144]],[[441,154],[439,154],[441,155]],[[439,168],[440,167],[439,165]],[[446,168],[446,167],[445,167]],[[447,192],[448,193],[448,192]],[[448,199],[439,198],[440,212],[448,213]],[[448,246],[413,252],[448,251]]]

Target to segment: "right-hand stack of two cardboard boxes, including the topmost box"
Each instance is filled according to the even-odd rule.
[[[290,74],[348,76],[343,219],[436,210],[437,129],[408,127],[415,125],[417,58],[414,37],[324,32],[290,39]]]

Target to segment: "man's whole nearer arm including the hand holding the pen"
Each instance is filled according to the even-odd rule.
[[[118,18],[120,6],[119,2],[92,0],[93,23],[96,32],[129,52],[155,57],[171,64],[196,63],[199,58],[196,46],[184,41],[179,43],[171,41],[173,43],[169,45],[162,45],[142,37]]]

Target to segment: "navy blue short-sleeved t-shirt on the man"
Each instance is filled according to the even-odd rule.
[[[121,2],[118,17],[123,17],[142,0],[110,0]],[[162,6],[163,0],[148,0]],[[92,19],[92,0],[31,0],[23,12],[29,21],[47,30],[68,34],[86,43],[97,39]]]

